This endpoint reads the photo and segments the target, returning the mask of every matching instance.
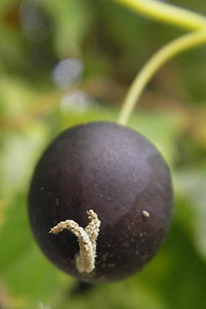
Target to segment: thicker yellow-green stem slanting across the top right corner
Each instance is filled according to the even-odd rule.
[[[187,30],[206,27],[205,16],[157,0],[113,0],[157,21],[170,23]]]

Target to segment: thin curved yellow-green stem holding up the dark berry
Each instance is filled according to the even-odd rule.
[[[146,84],[166,61],[187,49],[203,43],[206,43],[206,30],[192,32],[192,34],[185,34],[181,38],[176,38],[176,40],[168,43],[152,56],[143,69],[141,69],[133,84],[131,84],[117,122],[124,125],[128,122],[128,118]]]

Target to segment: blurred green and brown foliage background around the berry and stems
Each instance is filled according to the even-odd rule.
[[[204,0],[170,1],[206,14]],[[165,65],[128,126],[170,165],[174,218],[156,258],[133,277],[75,293],[36,246],[32,172],[52,139],[80,122],[116,121],[152,54],[183,30],[113,1],[0,1],[0,308],[206,308],[206,46]]]

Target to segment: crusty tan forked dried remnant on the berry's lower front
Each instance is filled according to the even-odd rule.
[[[58,234],[64,229],[73,233],[80,246],[80,252],[76,255],[76,267],[80,273],[91,273],[95,268],[96,240],[100,231],[101,221],[98,215],[90,209],[87,211],[89,224],[83,229],[73,220],[61,221],[49,231],[49,233]]]

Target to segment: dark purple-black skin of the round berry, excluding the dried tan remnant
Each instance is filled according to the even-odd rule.
[[[159,151],[112,122],[81,124],[56,137],[36,166],[29,194],[30,222],[43,253],[90,283],[124,279],[151,260],[168,232],[172,205],[170,171]],[[87,273],[76,266],[77,237],[67,229],[49,231],[65,220],[85,229],[89,209],[100,229],[95,268]]]

